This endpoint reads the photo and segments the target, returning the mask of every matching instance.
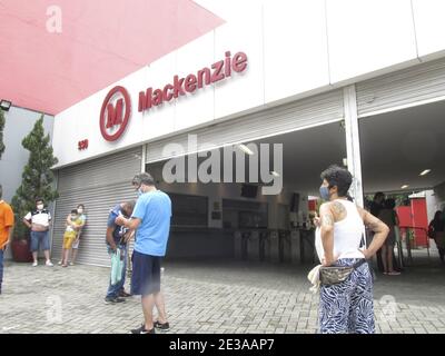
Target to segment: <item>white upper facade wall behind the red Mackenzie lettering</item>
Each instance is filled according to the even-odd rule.
[[[197,2],[226,23],[59,113],[53,140],[59,166],[445,56],[442,0]],[[245,72],[138,112],[139,91],[196,73],[227,50],[247,53]],[[99,112],[115,85],[129,90],[132,115],[123,136],[107,142]],[[83,139],[89,148],[79,151]]]

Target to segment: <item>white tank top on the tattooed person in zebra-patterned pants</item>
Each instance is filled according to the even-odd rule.
[[[348,200],[337,199],[346,209],[346,217],[342,221],[334,224],[334,257],[340,258],[364,258],[358,250],[360,247],[362,235],[365,230],[363,219],[358,214],[356,205]],[[322,244],[320,228],[315,234],[315,247],[319,260],[325,256]]]

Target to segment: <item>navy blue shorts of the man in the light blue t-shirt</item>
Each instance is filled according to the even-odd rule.
[[[131,294],[148,296],[160,291],[159,256],[132,253]]]

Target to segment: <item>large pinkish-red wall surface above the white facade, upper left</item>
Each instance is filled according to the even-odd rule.
[[[191,0],[0,0],[0,99],[56,115],[221,22]]]

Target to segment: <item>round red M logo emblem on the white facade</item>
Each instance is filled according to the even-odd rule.
[[[107,141],[116,141],[130,119],[131,102],[123,87],[115,87],[103,100],[100,110],[100,132]]]

